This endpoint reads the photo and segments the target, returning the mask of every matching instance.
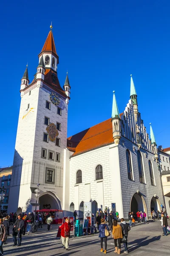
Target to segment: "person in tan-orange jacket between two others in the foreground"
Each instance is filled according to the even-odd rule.
[[[123,238],[122,236],[122,227],[117,224],[117,220],[113,221],[113,239],[114,239],[114,246],[115,246],[115,251],[114,253],[118,253],[120,254],[120,250],[121,250],[121,238]],[[118,242],[118,247],[117,247],[117,242]]]

